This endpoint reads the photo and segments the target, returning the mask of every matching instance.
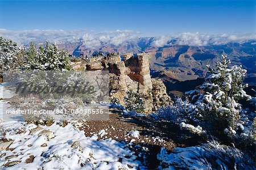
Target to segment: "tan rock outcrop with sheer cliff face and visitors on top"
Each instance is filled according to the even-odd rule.
[[[162,80],[150,77],[150,53],[124,54],[109,57],[92,57],[82,68],[86,71],[109,70],[110,97],[116,97],[123,105],[126,90],[141,94],[144,98],[145,113],[151,113],[160,107],[171,105]],[[77,65],[76,65],[77,66]],[[81,68],[74,67],[77,70]]]

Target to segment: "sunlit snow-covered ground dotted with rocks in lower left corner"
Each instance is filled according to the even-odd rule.
[[[86,137],[70,123],[47,127],[24,122],[2,123],[9,149],[0,151],[1,169],[138,169],[127,144]],[[43,131],[43,132],[42,132]],[[14,165],[13,165],[14,164]],[[12,165],[10,167],[5,167]]]

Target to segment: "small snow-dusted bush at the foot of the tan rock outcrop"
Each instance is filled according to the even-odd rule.
[[[136,113],[144,113],[145,102],[142,94],[135,93],[132,90],[127,90],[126,93],[127,96],[123,98],[123,102],[125,102],[125,109]]]

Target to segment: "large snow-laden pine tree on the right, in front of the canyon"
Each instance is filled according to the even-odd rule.
[[[228,128],[235,132],[240,121],[238,100],[250,98],[243,90],[247,86],[243,84],[246,70],[238,65],[229,68],[229,64],[230,60],[222,56],[216,68],[208,65],[209,72],[200,90],[187,92],[192,103],[188,108],[189,115],[210,130]]]

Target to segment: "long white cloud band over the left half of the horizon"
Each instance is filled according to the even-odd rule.
[[[116,30],[104,31],[95,33],[93,31],[63,31],[63,30],[23,30],[23,31],[10,31],[0,29],[0,36],[12,39],[19,45],[26,45],[28,43],[43,43],[47,40],[49,42],[76,42],[82,39],[83,44],[88,48],[98,47],[101,44],[109,43],[113,45],[121,45],[122,43],[129,42],[138,38],[139,32],[131,30]]]

